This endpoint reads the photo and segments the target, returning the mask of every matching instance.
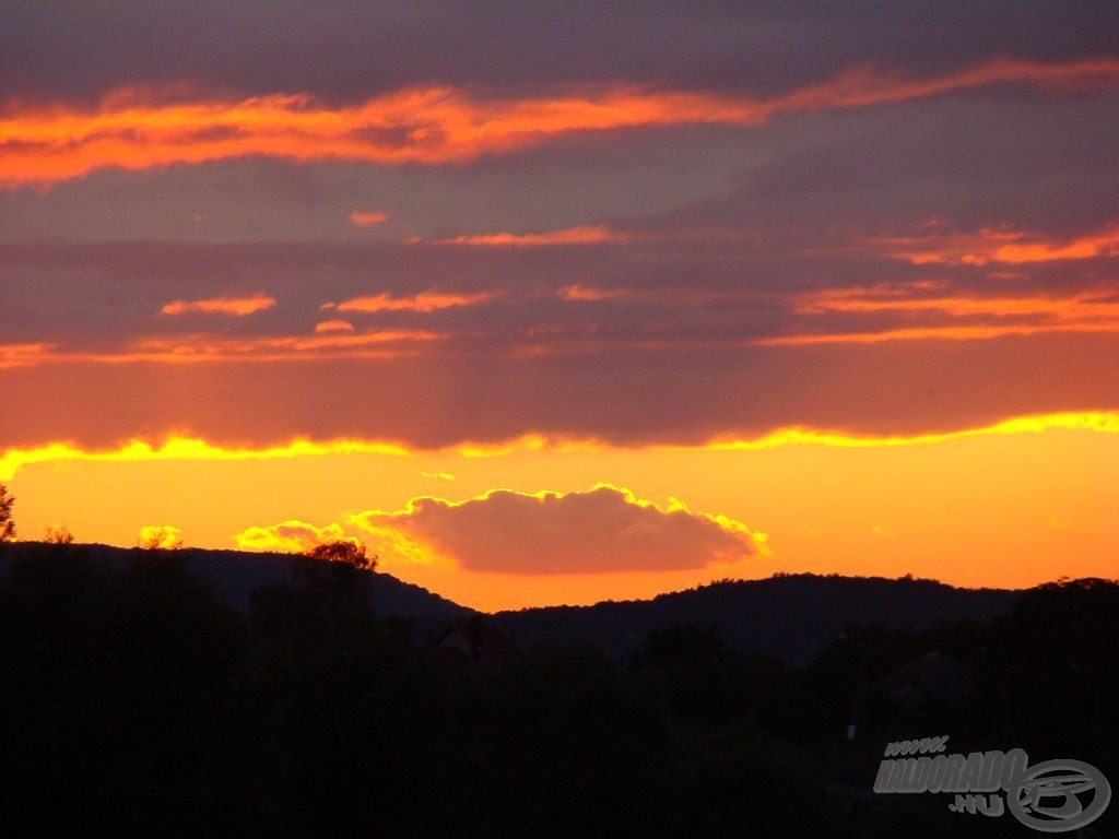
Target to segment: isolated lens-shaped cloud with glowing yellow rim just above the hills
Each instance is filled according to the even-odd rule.
[[[661,509],[619,487],[585,492],[491,490],[467,501],[414,498],[404,510],[351,521],[392,550],[404,538],[467,571],[602,574],[732,566],[759,552],[763,534],[725,516]]]

